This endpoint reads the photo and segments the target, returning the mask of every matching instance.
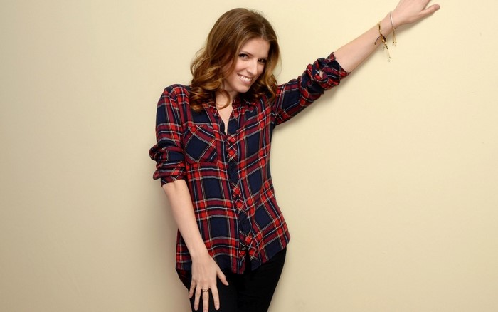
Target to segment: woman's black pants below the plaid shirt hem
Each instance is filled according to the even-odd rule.
[[[218,279],[216,286],[220,298],[220,309],[215,310],[213,296],[209,292],[209,312],[265,312],[270,306],[273,293],[277,287],[280,274],[284,267],[286,249],[272,257],[270,261],[254,271],[250,265],[244,274],[233,274],[223,271],[228,281],[228,286],[223,285]],[[249,263],[249,261],[248,261]],[[186,276],[180,276],[187,290],[191,284],[191,271]],[[190,299],[190,306],[194,310],[194,296]],[[197,311],[203,311],[202,298]]]

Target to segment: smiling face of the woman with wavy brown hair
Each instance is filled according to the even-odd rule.
[[[223,80],[222,88],[230,94],[231,99],[238,93],[248,92],[258,80],[265,69],[269,51],[270,43],[262,38],[250,39],[240,48],[233,71]]]

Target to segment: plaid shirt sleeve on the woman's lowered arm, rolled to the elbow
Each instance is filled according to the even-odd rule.
[[[174,89],[166,88],[157,103],[156,139],[157,144],[149,150],[155,160],[154,180],[161,184],[186,178],[184,149],[182,146],[182,125],[178,99]]]

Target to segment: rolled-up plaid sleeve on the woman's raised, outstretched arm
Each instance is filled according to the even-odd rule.
[[[339,85],[349,73],[341,68],[334,53],[309,64],[297,79],[279,85],[273,107],[275,122],[283,123],[317,100],[326,90]]]

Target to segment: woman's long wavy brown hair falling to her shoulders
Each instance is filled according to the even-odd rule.
[[[211,100],[216,92],[228,93],[221,87],[226,74],[233,70],[235,59],[240,48],[250,39],[262,38],[270,43],[270,51],[265,69],[258,80],[253,83],[245,96],[255,99],[265,92],[275,97],[277,80],[273,71],[280,59],[280,48],[277,35],[271,24],[257,11],[249,9],[232,9],[220,16],[209,32],[206,46],[201,49],[192,61],[190,105],[191,108],[203,110],[202,103]],[[228,64],[231,68],[223,71]],[[226,103],[229,105],[230,103]]]

